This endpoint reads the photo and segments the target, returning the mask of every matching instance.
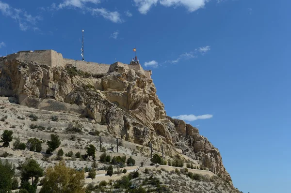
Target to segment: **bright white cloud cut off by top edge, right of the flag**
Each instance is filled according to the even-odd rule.
[[[210,0],[134,0],[141,14],[146,14],[150,8],[153,5],[157,5],[157,3],[165,7],[184,6],[189,12],[194,12],[197,9],[203,8],[208,1]]]

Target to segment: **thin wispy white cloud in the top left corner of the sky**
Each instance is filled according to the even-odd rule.
[[[30,25],[28,25],[26,22],[32,25],[36,25],[36,23],[42,19],[41,16],[32,16],[26,11],[13,8],[8,3],[3,3],[2,1],[0,1],[0,12],[4,16],[15,19],[19,24],[20,30],[23,31],[26,31],[30,28]]]

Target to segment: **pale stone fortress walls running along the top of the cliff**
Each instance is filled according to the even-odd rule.
[[[15,54],[10,54],[4,57],[0,57],[0,70],[3,68],[5,61],[12,61],[13,59],[21,59],[27,61],[35,61],[41,65],[47,65],[50,67],[62,66],[64,68],[76,67],[77,70],[81,70],[90,74],[106,74],[113,72],[113,67],[121,66],[124,69],[135,69],[141,71],[147,78],[151,78],[152,71],[144,70],[139,63],[124,64],[121,62],[115,62],[113,64],[101,64],[96,62],[87,62],[74,59],[65,59],[61,53],[54,50],[35,50],[35,51],[19,51]]]

